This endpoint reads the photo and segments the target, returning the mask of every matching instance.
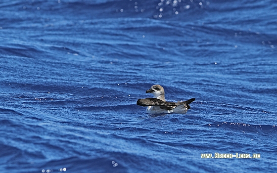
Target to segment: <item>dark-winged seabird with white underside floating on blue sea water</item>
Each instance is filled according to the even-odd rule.
[[[165,100],[164,88],[160,85],[154,85],[146,90],[146,93],[152,93],[154,98],[142,98],[137,101],[139,106],[147,106],[146,112],[149,114],[178,113],[185,114],[190,108],[189,103],[195,98],[186,101],[167,102]]]

